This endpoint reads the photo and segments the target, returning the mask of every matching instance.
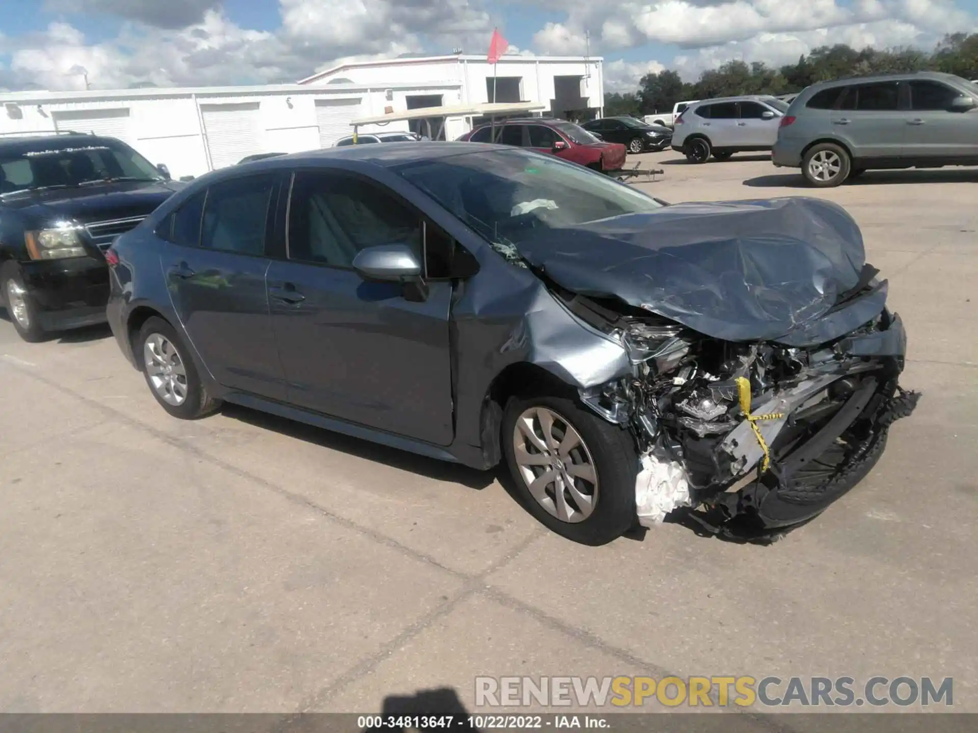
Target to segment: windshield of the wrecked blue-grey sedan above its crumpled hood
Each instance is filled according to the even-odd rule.
[[[530,151],[470,152],[396,172],[494,245],[661,207],[600,173]]]

